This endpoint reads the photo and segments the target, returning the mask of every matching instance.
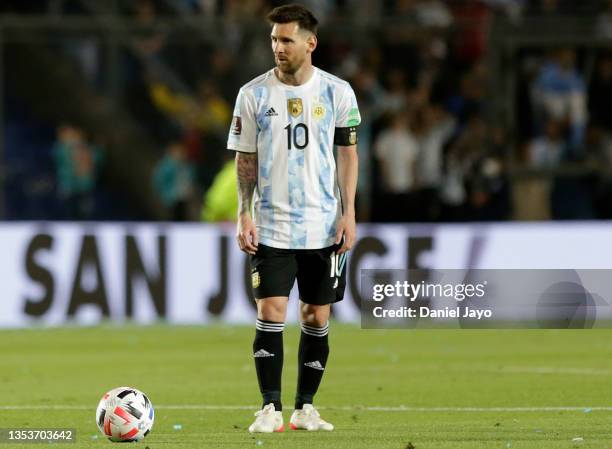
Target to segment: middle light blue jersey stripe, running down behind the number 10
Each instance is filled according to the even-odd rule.
[[[295,94],[290,91],[285,91],[285,98],[296,98]],[[294,141],[293,137],[300,139],[303,142],[306,137],[303,135],[303,130],[295,131],[296,125],[302,123],[301,117],[306,114],[307,111],[302,111],[300,117],[293,117],[288,114],[291,123],[291,140]],[[306,131],[307,132],[307,131]],[[287,150],[288,161],[288,189],[289,189],[289,247],[290,248],[304,248],[306,246],[306,224],[304,223],[304,217],[306,215],[306,191],[304,190],[304,151],[308,151],[308,147],[300,150],[295,146],[295,142],[291,146],[290,150]]]

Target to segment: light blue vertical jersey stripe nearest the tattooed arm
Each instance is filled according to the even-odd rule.
[[[268,229],[274,226],[274,208],[272,207],[272,130],[269,117],[265,116],[265,106],[269,96],[265,86],[255,89],[255,104],[257,104],[257,148],[258,150],[258,182],[259,201],[257,217],[259,223],[266,223]],[[271,236],[270,236],[271,237]]]

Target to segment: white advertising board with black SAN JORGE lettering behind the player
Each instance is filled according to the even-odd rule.
[[[0,225],[0,327],[103,320],[252,323],[251,273],[232,225]],[[366,269],[609,269],[606,222],[360,225],[335,317],[358,322]],[[292,291],[295,304],[297,289]],[[297,307],[289,308],[295,321]]]

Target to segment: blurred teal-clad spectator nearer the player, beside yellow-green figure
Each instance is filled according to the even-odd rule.
[[[155,167],[153,182],[173,221],[189,219],[194,181],[195,170],[187,160],[185,148],[180,143],[171,143]]]

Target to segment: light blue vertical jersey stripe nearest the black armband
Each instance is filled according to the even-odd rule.
[[[321,212],[326,217],[325,232],[329,236],[336,234],[337,200],[334,195],[334,170],[330,163],[330,154],[333,155],[333,146],[330,146],[330,133],[333,133],[332,118],[334,112],[334,88],[327,80],[321,79],[319,100],[325,106],[326,114],[319,123],[319,193]],[[333,144],[332,144],[333,145]]]

